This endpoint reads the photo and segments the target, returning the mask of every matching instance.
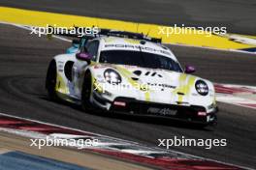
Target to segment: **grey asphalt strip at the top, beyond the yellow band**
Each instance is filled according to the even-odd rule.
[[[255,0],[1,0],[0,6],[256,35]]]

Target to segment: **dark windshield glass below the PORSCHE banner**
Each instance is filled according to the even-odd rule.
[[[138,66],[182,72],[179,64],[171,58],[143,51],[106,50],[100,55],[100,63]]]

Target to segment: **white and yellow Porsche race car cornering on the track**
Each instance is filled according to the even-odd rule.
[[[213,84],[192,75],[191,66],[183,71],[174,53],[157,39],[109,31],[81,42],[50,61],[50,99],[79,104],[90,112],[216,123]]]

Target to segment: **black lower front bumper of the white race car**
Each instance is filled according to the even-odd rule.
[[[125,103],[125,106],[115,105],[115,101],[117,101],[118,103]],[[116,98],[112,102],[110,111],[119,113],[169,117],[198,124],[213,124],[216,122],[217,109],[214,109],[214,111],[207,113],[205,107],[197,105],[184,106],[147,102],[137,99]]]

